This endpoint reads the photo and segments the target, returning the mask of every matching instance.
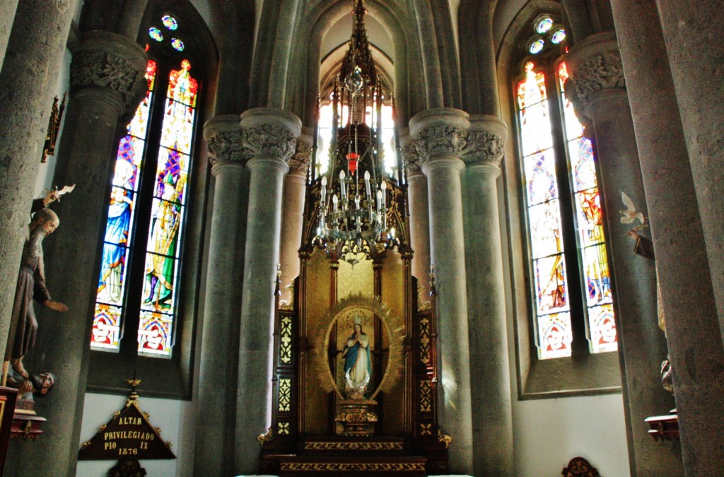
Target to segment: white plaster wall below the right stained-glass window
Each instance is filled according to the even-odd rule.
[[[515,475],[560,476],[581,456],[605,477],[628,476],[621,394],[513,402]]]

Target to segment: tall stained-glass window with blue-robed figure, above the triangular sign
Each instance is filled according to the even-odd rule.
[[[169,18],[162,24],[177,25]],[[148,60],[146,97],[119,142],[93,350],[132,340],[140,355],[171,357],[199,87],[191,69],[183,57]]]

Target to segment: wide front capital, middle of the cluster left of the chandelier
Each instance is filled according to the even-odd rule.
[[[297,149],[296,138],[302,122],[289,111],[254,108],[241,114],[241,146],[247,160],[256,156],[273,156],[290,161]]]

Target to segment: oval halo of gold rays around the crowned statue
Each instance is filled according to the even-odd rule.
[[[360,313],[360,311],[363,311],[363,313]],[[384,303],[381,299],[358,293],[340,300],[332,308],[329,308],[315,332],[313,362],[321,388],[325,392],[334,391],[340,399],[345,399],[340,390],[337,389],[337,383],[332,376],[332,370],[329,368],[329,361],[327,360],[329,334],[332,332],[335,323],[353,323],[357,315],[361,315],[363,316],[362,319],[366,318],[369,321],[372,321],[374,315],[376,315],[382,321],[387,336],[390,337],[387,368],[384,370],[382,381],[379,382],[377,389],[374,390],[370,397],[371,400],[374,400],[379,392],[389,392],[395,386],[397,379],[400,379],[403,366],[402,347],[405,333],[403,319],[393,314],[387,303]]]

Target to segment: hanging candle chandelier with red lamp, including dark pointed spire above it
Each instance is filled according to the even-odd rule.
[[[372,61],[364,25],[366,9],[355,0],[349,49],[330,93],[332,138],[329,166],[317,171],[319,104],[313,137],[310,185],[319,200],[315,242],[352,265],[375,248],[397,245],[387,225],[387,195],[402,182],[399,143],[397,177],[386,178],[382,163],[382,80]],[[393,106],[394,109],[394,106]],[[394,114],[394,112],[393,112]],[[321,177],[316,177],[319,174]],[[395,180],[396,179],[396,180]],[[390,185],[388,187],[388,180]]]

